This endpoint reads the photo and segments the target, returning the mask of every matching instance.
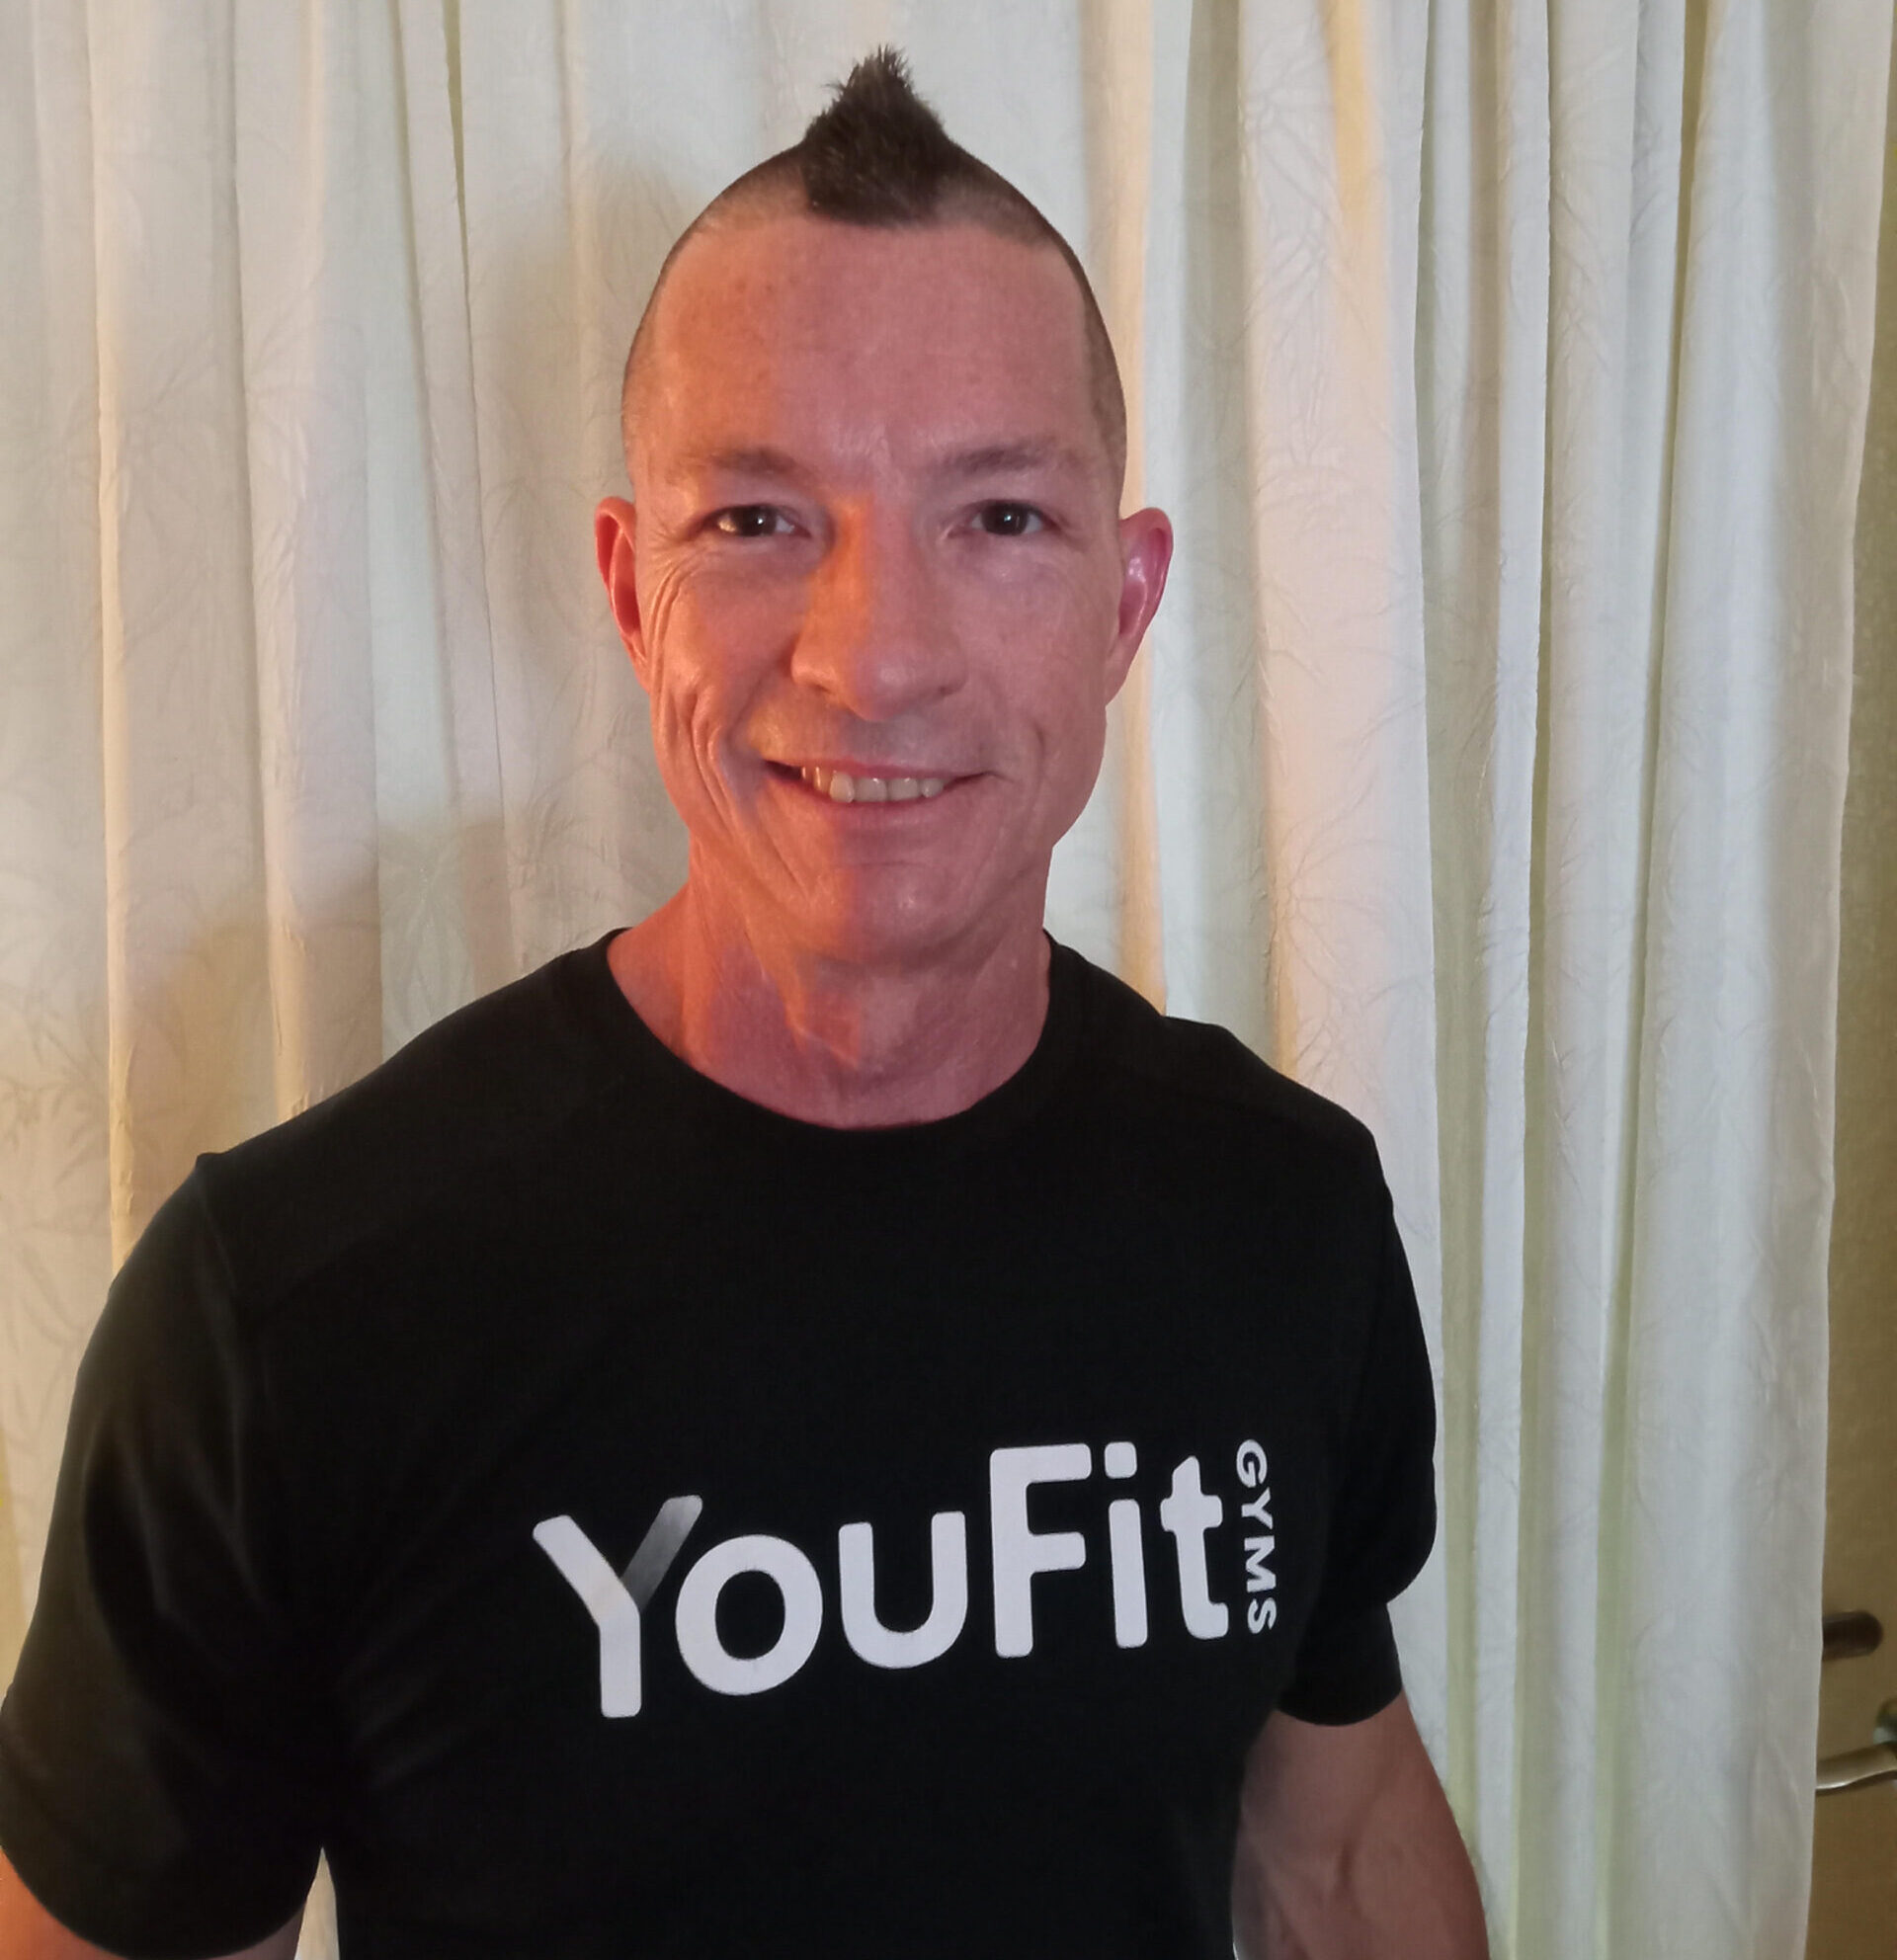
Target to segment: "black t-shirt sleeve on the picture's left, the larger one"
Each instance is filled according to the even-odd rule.
[[[0,1703],[0,1846],[55,1919],[129,1960],[253,1944],[316,1870],[327,1725],[274,1445],[192,1178],[80,1364]]]

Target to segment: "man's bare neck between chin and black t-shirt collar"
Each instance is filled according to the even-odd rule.
[[[927,1123],[980,1102],[1046,1019],[1039,909],[927,966],[851,966],[735,931],[688,884],[609,949],[645,1025],[702,1076],[837,1129]]]

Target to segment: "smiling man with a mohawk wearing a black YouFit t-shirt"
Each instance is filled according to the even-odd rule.
[[[349,1954],[1480,1954],[1376,1152],[1041,923],[1172,549],[1078,265],[876,57],[625,410],[686,884],[153,1221],[0,1952],[288,1954],[321,1844]]]

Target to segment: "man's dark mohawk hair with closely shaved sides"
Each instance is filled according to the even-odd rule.
[[[1058,251],[1080,288],[1094,417],[1107,445],[1113,478],[1123,482],[1127,400],[1119,363],[1099,302],[1068,241],[999,171],[948,135],[935,110],[911,86],[907,65],[894,47],[878,47],[866,55],[851,69],[847,82],[831,84],[831,106],[811,120],[798,143],[727,184],[666,253],[625,357],[619,435],[627,461],[653,316],[672,261],[700,231],[719,223],[802,210],[831,223],[872,229],[976,223],[999,237]]]

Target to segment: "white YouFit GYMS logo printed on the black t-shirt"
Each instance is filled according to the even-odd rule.
[[[1107,1484],[1125,1484],[1139,1470],[1131,1443],[1101,1450]],[[1272,1490],[1264,1450],[1240,1443],[1235,1458],[1240,1486],[1250,1497],[1240,1515],[1244,1535],[1244,1627],[1266,1633],[1278,1623],[1272,1570]],[[1027,1521],[1027,1494],[1037,1484],[1082,1484],[1094,1476],[1094,1450],[1086,1443],[1048,1443],[994,1450],[988,1458],[988,1548],[994,1572],[996,1654],[1017,1658],[1035,1650],[1035,1580],[1078,1572],[1088,1562],[1088,1541],[1078,1531],[1035,1531]],[[570,1517],[547,1517],[533,1527],[535,1543],[560,1578],[578,1593],[600,1633],[600,1713],[637,1715],[641,1707],[641,1658],[645,1617],[686,1539],[704,1513],[702,1497],[668,1497],[623,1572]],[[1172,1539],[1178,1570],[1178,1609],[1195,1641],[1219,1641],[1233,1629],[1231,1607],[1213,1597],[1211,1533],[1225,1523],[1225,1499],[1207,1494],[1199,1458],[1182,1458],[1172,1486],[1158,1503],[1160,1529]],[[1217,1560],[1223,1568],[1225,1560]],[[1144,1646],[1150,1633],[1146,1552],[1137,1497],[1107,1503],[1107,1566],[1113,1580],[1113,1639],[1119,1646]],[[717,1601],[741,1572],[756,1572],[776,1586],[784,1625],[760,1654],[733,1654],[717,1631]],[[866,1523],[837,1533],[837,1609],[851,1650],[872,1668],[919,1668],[941,1658],[960,1639],[968,1621],[968,1519],[962,1511],[937,1511],[929,1519],[929,1613],[917,1627],[886,1627],[876,1611],[876,1535]],[[1223,1588],[1221,1588],[1223,1590]],[[700,1554],[678,1588],[672,1611],[678,1654],[713,1693],[754,1695],[788,1682],[815,1652],[823,1631],[825,1593],[815,1562],[788,1539],[753,1533],[723,1539]]]

